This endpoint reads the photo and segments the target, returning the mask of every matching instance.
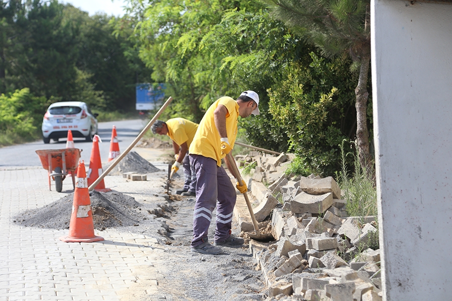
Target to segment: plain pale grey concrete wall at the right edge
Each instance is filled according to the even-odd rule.
[[[452,300],[452,5],[373,0],[386,300]]]

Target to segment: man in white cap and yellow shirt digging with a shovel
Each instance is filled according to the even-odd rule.
[[[236,190],[221,167],[224,158],[233,173],[228,158],[236,141],[238,117],[259,115],[259,96],[245,91],[237,100],[224,96],[217,99],[204,114],[189,147],[190,164],[196,172],[196,203],[193,214],[191,251],[220,254],[220,245],[241,245],[244,239],[231,234],[232,215],[236,205]],[[237,176],[237,175],[234,175]],[[236,177],[237,178],[237,177]],[[247,191],[245,182],[238,183],[241,193]],[[216,205],[216,228],[213,245],[208,242],[208,228]]]

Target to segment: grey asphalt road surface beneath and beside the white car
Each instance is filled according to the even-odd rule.
[[[113,125],[116,125],[120,152],[123,153],[148,122],[149,120],[142,119],[99,122],[98,132],[100,139],[102,140],[102,142],[99,143],[99,152],[102,163],[108,161]],[[86,142],[83,138],[74,138],[74,144],[75,148],[82,150],[80,159],[85,162],[85,165],[88,165],[91,157],[92,142]],[[36,154],[37,149],[62,148],[66,148],[65,138],[60,139],[58,142],[51,140],[49,144],[44,144],[42,139],[40,139],[34,142],[0,147],[0,168],[42,166],[39,156]]]

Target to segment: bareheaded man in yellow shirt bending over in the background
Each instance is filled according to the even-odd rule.
[[[177,190],[176,194],[183,196],[195,196],[196,173],[192,171],[188,158],[188,148],[196,133],[198,124],[184,118],[172,118],[166,122],[156,120],[151,130],[154,134],[168,135],[173,140],[174,154],[176,162],[171,167],[171,171],[177,172],[181,164],[184,167],[185,183],[182,190]]]

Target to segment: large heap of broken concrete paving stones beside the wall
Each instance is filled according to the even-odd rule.
[[[308,301],[382,300],[374,217],[348,216],[347,201],[341,199],[341,189],[332,177],[286,175],[293,158],[292,154],[275,157],[257,152],[236,156],[241,166],[257,162],[246,179],[257,200],[253,211],[258,222],[271,218],[276,242],[250,241],[270,296]],[[238,215],[242,231],[252,231],[252,225],[241,222]]]

